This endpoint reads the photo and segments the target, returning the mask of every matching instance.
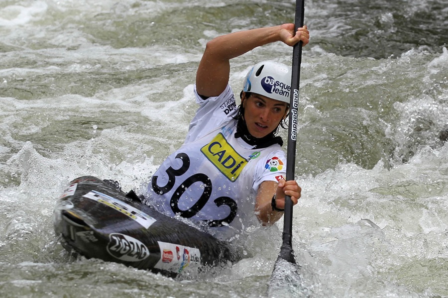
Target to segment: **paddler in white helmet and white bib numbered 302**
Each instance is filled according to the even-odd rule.
[[[236,105],[229,83],[232,58],[273,42],[306,45],[309,31],[294,24],[233,32],[207,43],[196,74],[199,108],[184,144],[162,163],[145,198],[157,210],[200,221],[220,239],[281,218],[285,195],[297,204],[301,188],[285,181],[286,157],[277,136],[289,112],[291,70],[273,61],[248,72]]]

